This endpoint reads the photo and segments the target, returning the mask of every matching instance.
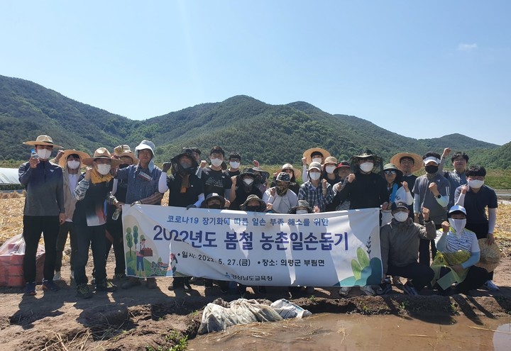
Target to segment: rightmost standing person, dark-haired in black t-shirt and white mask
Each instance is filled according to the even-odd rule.
[[[466,208],[466,227],[476,233],[478,239],[486,239],[488,245],[495,243],[493,231],[497,223],[497,194],[484,184],[486,169],[483,166],[471,166],[466,171],[467,185],[458,186],[454,194],[456,205]],[[488,216],[486,216],[488,208]],[[493,270],[483,284],[485,289],[498,291],[493,283]]]

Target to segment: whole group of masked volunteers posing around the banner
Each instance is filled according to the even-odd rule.
[[[20,182],[26,186],[23,270],[28,295],[35,295],[35,252],[41,233],[45,243],[43,289],[59,289],[55,281],[62,279],[67,235],[77,296],[92,296],[85,272],[89,248],[96,291],[117,289],[106,278],[111,247],[116,259],[114,277],[122,279],[121,287],[143,284],[143,279],[126,277],[119,212],[125,204],[160,205],[166,191],[168,206],[184,208],[297,215],[380,208],[384,274],[378,294],[391,289],[388,277],[394,284],[402,284],[400,277],[407,278],[403,284],[407,294],[417,294],[428,284],[441,294],[448,294],[452,284],[462,293],[480,286],[498,289],[492,281],[493,272],[475,265],[480,261],[478,239],[485,245],[494,243],[497,198],[495,191],[484,185],[484,167],[468,167],[463,152],[451,157],[454,170],[444,172],[449,148],[442,155],[427,152],[423,157],[401,152],[383,165],[381,157],[370,150],[338,162],[328,151],[314,147],[304,152],[302,170],[286,163],[270,179],[257,161],[252,162],[253,167],[241,169],[241,155],[233,152],[226,157],[219,146],[209,151],[209,165],[201,160],[201,150],[185,147],[160,169],[155,165],[155,145],[149,140],[141,141],[134,152],[128,145],[119,145],[112,153],[99,147],[91,157],[70,149],[59,151],[53,160],[53,149],[62,147],[50,136],[39,135],[25,144],[33,147],[30,159],[19,168]],[[426,174],[414,175],[422,167]],[[442,234],[437,235],[436,230]],[[143,243],[138,246],[136,255],[143,260]],[[204,279],[205,286],[212,284]],[[229,286],[228,282],[218,284],[222,291]],[[145,285],[155,288],[155,278],[145,279]],[[176,277],[172,288],[189,289],[189,278]],[[370,286],[361,289],[375,294]],[[349,291],[342,287],[339,293],[346,296]]]

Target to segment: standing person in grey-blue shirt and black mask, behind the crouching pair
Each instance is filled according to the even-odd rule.
[[[415,181],[414,193],[414,221],[424,223],[422,208],[429,208],[429,218],[441,228],[441,223],[447,219],[447,204],[449,204],[449,182],[439,174],[440,155],[436,152],[427,152],[422,157],[426,174]],[[436,255],[434,240],[422,240],[419,245],[419,263],[429,266],[429,245],[431,245],[432,258]]]

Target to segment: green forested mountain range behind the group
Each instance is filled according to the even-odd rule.
[[[143,139],[153,140],[157,162],[170,160],[182,146],[199,147],[206,158],[214,145],[221,145],[226,152],[240,152],[244,164],[257,159],[265,164],[298,165],[302,152],[315,146],[324,147],[339,159],[365,147],[388,160],[395,152],[441,153],[447,146],[455,151],[473,150],[474,157],[501,159],[498,145],[464,135],[407,138],[361,118],[331,115],[302,101],[270,105],[250,96],[233,96],[219,103],[132,121],[33,82],[0,76],[0,160],[26,159],[29,150],[22,142],[40,134],[51,135],[59,145],[87,152],[99,146],[111,150],[121,143],[134,147]],[[507,165],[503,158],[496,163]]]

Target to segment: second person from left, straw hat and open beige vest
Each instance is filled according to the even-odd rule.
[[[78,150],[64,150],[59,151],[55,161],[62,167],[63,184],[64,184],[64,207],[66,220],[60,225],[57,237],[57,255],[55,258],[55,276],[53,280],[61,280],[62,274],[60,269],[62,267],[62,252],[64,252],[65,243],[67,241],[67,233],[69,233],[71,244],[70,255],[70,268],[71,280],[75,279],[75,256],[78,250],[77,238],[75,230],[73,230],[72,216],[75,213],[75,206],[77,199],[75,198],[75,189],[78,184],[78,179],[81,175],[80,168],[82,167],[82,160],[88,158],[86,152]]]

